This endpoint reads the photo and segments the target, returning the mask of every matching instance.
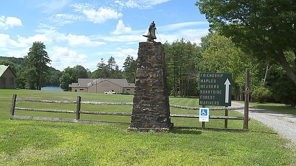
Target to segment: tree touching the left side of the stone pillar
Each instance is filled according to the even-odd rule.
[[[137,61],[134,60],[133,56],[128,56],[124,63],[124,77],[129,83],[134,83],[136,79],[137,72]]]

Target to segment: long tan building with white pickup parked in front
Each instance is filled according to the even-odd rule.
[[[109,90],[116,93],[134,94],[135,84],[128,83],[127,79],[111,78],[78,78],[78,83],[69,84],[71,92],[104,93]]]

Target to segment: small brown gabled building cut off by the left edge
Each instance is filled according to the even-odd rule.
[[[0,65],[0,89],[15,89],[16,75],[8,64]]]

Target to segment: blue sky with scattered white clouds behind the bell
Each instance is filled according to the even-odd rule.
[[[96,69],[112,56],[122,69],[127,56],[137,58],[142,35],[155,21],[157,39],[184,38],[199,44],[209,23],[192,0],[10,0],[0,6],[0,56],[26,56],[33,42],[46,46],[52,67],[82,65]]]

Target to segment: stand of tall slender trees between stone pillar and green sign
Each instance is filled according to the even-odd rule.
[[[171,95],[188,97],[198,94],[199,46],[185,39],[165,43],[168,89]]]

